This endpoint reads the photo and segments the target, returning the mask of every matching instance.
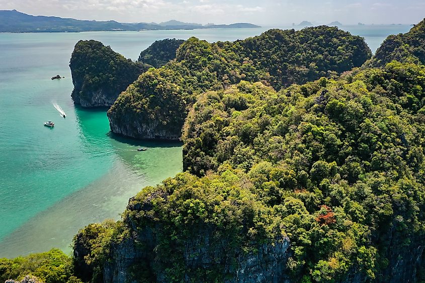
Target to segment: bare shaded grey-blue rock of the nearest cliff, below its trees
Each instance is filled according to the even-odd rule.
[[[159,227],[157,227],[159,228]],[[152,281],[168,282],[161,259],[155,253],[158,245],[156,233],[161,230],[144,227],[142,232],[133,234],[119,244],[113,244],[111,258],[104,265],[104,282],[136,282],[135,270],[145,269]],[[198,237],[186,241],[183,252],[183,265],[188,270],[185,282],[200,282],[193,276],[193,270],[213,270],[222,266],[220,275],[225,282],[290,282],[286,262],[290,256],[290,241],[287,237],[275,243],[262,244],[256,251],[247,254],[241,250],[228,250],[228,243],[210,243],[211,234],[199,231]],[[212,231],[211,231],[212,232]],[[140,248],[142,246],[142,248]],[[139,247],[139,248],[138,248]]]

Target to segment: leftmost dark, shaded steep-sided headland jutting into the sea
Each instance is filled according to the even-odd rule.
[[[71,97],[82,107],[110,107],[118,95],[149,67],[133,62],[99,41],[80,40],[69,63]]]

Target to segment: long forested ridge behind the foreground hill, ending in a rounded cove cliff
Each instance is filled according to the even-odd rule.
[[[335,27],[269,30],[235,42],[185,41],[176,59],[143,73],[108,111],[115,133],[177,140],[200,93],[241,80],[280,89],[361,66],[371,56],[363,38]]]

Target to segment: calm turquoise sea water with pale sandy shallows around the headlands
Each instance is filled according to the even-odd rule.
[[[236,40],[269,28],[0,34],[0,257],[52,247],[69,252],[79,228],[118,219],[141,188],[182,170],[180,144],[115,137],[106,110],[73,105],[68,64],[78,40],[99,40],[137,59],[159,39]],[[343,27],[365,37],[373,51],[388,35],[409,28]],[[65,78],[51,80],[56,74]],[[54,129],[42,125],[47,120]],[[149,150],[135,151],[141,146]]]

